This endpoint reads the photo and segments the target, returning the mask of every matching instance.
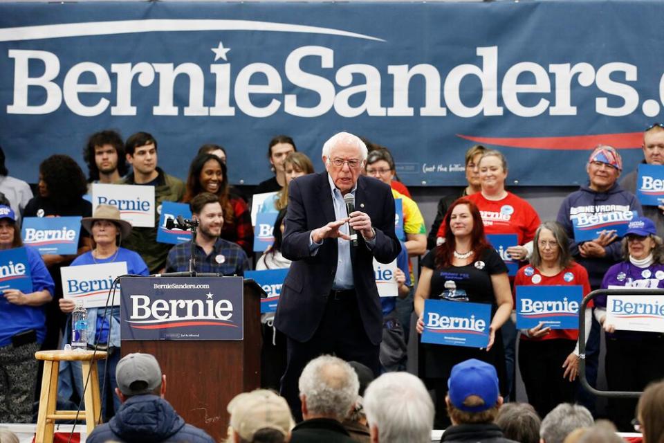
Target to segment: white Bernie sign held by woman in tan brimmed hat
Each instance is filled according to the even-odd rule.
[[[127,262],[84,264],[60,269],[64,298],[83,300],[83,306],[104,307],[113,280],[127,273]],[[120,284],[109,305],[120,305]]]

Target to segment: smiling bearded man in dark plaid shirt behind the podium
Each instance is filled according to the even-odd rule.
[[[199,221],[196,232],[196,272],[219,275],[244,275],[249,260],[240,246],[219,238],[223,225],[223,210],[219,198],[210,192],[201,192],[190,201],[194,219]],[[167,272],[189,271],[192,244],[177,244],[168,253]]]

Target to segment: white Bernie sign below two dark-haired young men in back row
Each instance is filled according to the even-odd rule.
[[[93,213],[100,204],[117,206],[134,228],[154,228],[154,186],[93,183]]]

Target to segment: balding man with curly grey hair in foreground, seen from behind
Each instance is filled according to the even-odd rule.
[[[291,443],[352,443],[341,424],[360,390],[358,374],[351,365],[322,355],[307,363],[298,383],[304,421],[293,428]]]

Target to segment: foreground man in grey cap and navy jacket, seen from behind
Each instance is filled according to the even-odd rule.
[[[97,426],[86,442],[213,443],[202,429],[186,424],[164,399],[166,375],[151,354],[128,354],[116,368],[122,406],[108,423]]]

